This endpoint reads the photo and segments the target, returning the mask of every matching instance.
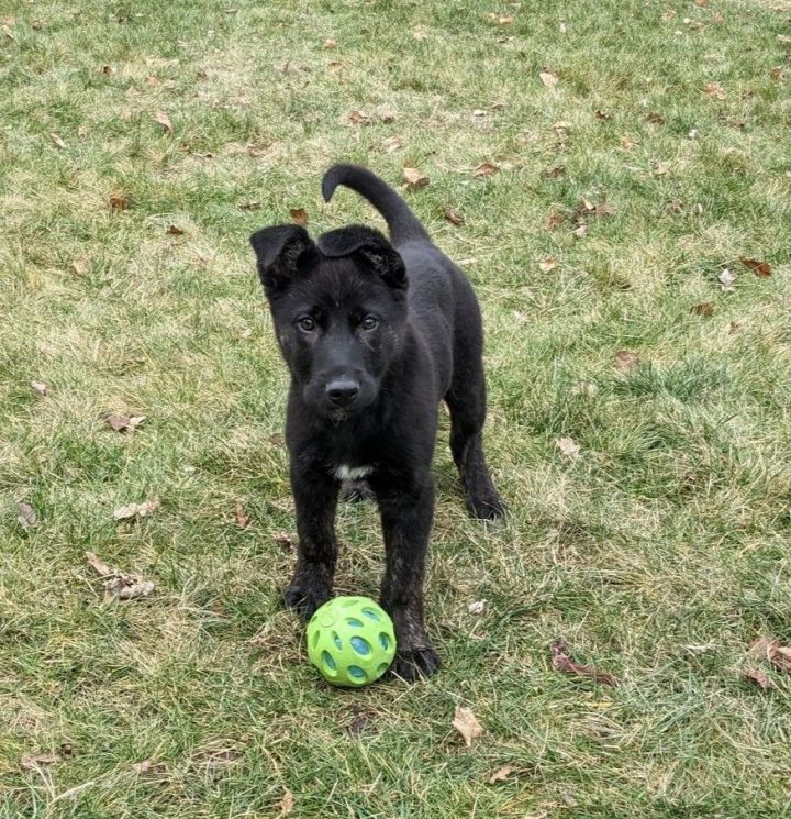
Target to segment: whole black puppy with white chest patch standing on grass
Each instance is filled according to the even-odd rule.
[[[338,185],[385,217],[390,242],[363,225],[315,243],[293,224],[250,237],[291,372],[286,440],[300,543],[283,596],[305,617],[330,598],[338,488],[367,479],[385,535],[381,605],[396,626],[393,672],[412,680],[439,665],[423,627],[423,574],[441,400],[470,512],[503,513],[481,447],[481,317],[469,281],[396,191],[354,165],[326,173],[326,201]]]

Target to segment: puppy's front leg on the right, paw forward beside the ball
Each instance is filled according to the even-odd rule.
[[[426,476],[411,491],[377,492],[385,534],[386,569],[381,605],[396,627],[398,654],[393,674],[415,680],[439,667],[423,627],[423,575],[434,517],[434,486]]]

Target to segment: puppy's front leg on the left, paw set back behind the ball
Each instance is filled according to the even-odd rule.
[[[291,469],[291,491],[297,507],[299,547],[291,583],[283,600],[305,619],[330,599],[337,560],[335,508],[338,484],[321,468]]]

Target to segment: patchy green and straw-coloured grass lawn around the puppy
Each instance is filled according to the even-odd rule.
[[[1,12],[0,817],[788,816],[791,686],[749,648],[791,642],[791,3]],[[247,236],[380,224],[322,203],[336,161],[430,177],[405,197],[487,324],[511,517],[466,517],[443,414],[415,686],[327,687],[279,606],[287,377]],[[338,533],[338,591],[376,595],[376,509]],[[86,551],[156,590],[107,601]]]

